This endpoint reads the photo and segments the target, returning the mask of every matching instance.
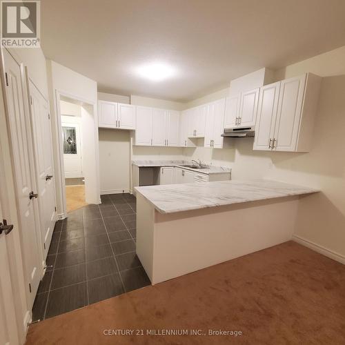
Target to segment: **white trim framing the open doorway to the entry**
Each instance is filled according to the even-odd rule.
[[[63,144],[62,144],[62,128],[61,128],[61,109],[60,109],[60,99],[62,97],[68,97],[70,99],[75,99],[76,101],[80,101],[81,103],[87,103],[88,105],[92,106],[93,108],[93,119],[94,119],[94,124],[95,124],[95,147],[98,148],[98,117],[97,117],[97,102],[95,101],[90,101],[88,99],[83,99],[79,96],[72,95],[68,92],[64,92],[62,90],[57,90],[55,89],[55,113],[56,113],[56,118],[55,118],[55,125],[56,125],[56,131],[55,135],[57,138],[57,143],[55,142],[56,147],[59,150],[59,154],[57,155],[57,166],[58,166],[58,171],[56,171],[57,175],[57,180],[59,179],[60,184],[61,184],[61,191],[60,191],[60,196],[61,196],[61,201],[62,204],[57,205],[59,208],[58,210],[60,211],[59,214],[57,215],[58,219],[63,219],[67,217],[67,206],[66,206],[66,183],[65,183],[65,170],[64,170],[64,164],[63,164]],[[53,138],[54,140],[54,138]],[[100,193],[99,193],[99,164],[97,162],[99,161],[99,150],[95,150],[96,152],[96,164],[95,164],[95,169],[96,169],[96,176],[97,176],[97,194],[100,202]],[[59,207],[60,206],[60,207]]]

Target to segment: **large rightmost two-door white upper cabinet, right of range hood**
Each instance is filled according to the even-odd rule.
[[[308,152],[321,80],[308,73],[260,89],[254,150]]]

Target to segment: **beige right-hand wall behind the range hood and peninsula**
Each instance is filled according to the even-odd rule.
[[[345,257],[345,47],[295,63],[276,79],[322,75],[313,148],[308,153],[253,151],[253,138],[233,148],[186,148],[190,158],[233,168],[233,179],[268,178],[320,188],[300,202],[296,235]],[[201,143],[202,144],[202,143]]]

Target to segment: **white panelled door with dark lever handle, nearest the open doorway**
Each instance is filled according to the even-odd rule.
[[[41,220],[41,244],[43,260],[46,259],[52,230],[57,219],[55,210],[54,167],[52,163],[52,135],[48,101],[29,81],[32,139],[34,141],[34,162],[36,183],[39,193],[39,215]]]

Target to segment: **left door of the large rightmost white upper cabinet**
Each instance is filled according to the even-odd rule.
[[[275,136],[280,83],[278,81],[260,89],[253,150],[271,150]]]

